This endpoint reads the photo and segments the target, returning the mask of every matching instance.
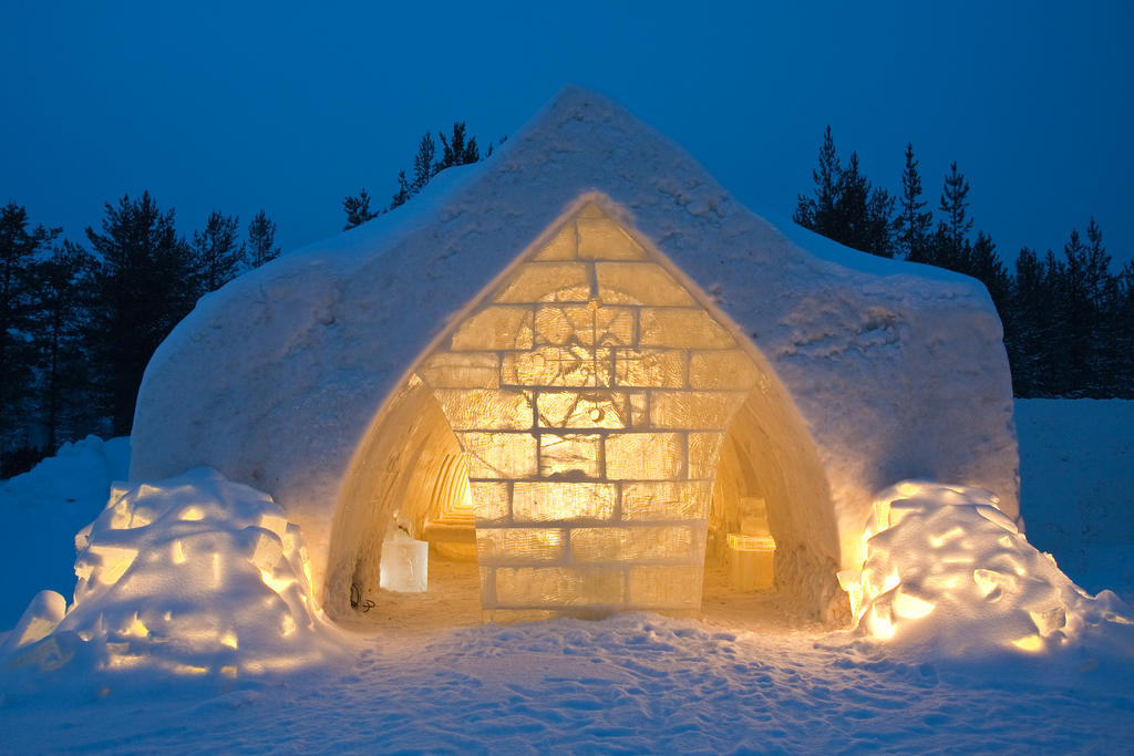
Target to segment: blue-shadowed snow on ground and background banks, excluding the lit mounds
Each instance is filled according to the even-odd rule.
[[[1134,402],[1018,402],[1017,422],[1030,538],[1092,593],[1134,596]],[[0,626],[31,598],[28,577],[69,597],[57,552],[102,509],[83,485],[104,499],[95,460],[120,475],[107,467],[121,443],[87,442],[0,486],[14,524],[0,534],[12,578]],[[713,617],[328,630],[320,663],[235,679],[6,669],[0,750],[1067,753],[1128,750],[1134,737],[1128,645],[956,660]]]

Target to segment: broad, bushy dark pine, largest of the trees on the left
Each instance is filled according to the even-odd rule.
[[[125,435],[150,357],[195,301],[192,250],[149,192],[107,203],[102,232],[86,237],[101,257],[87,331],[100,407]]]

